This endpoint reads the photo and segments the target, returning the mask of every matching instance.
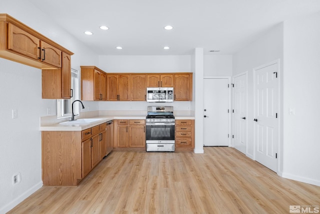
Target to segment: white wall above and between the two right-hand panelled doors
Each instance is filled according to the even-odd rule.
[[[258,40],[247,45],[233,55],[233,75],[248,71],[247,73],[247,148],[246,155],[253,158],[253,72],[252,69],[265,63],[280,59],[283,56],[283,24],[279,24],[264,34]],[[279,71],[282,79],[282,66]],[[281,91],[281,90],[280,90]],[[281,94],[281,92],[280,92]],[[281,104],[280,104],[281,105]],[[282,115],[281,112],[279,115]],[[279,142],[281,143],[281,140]]]

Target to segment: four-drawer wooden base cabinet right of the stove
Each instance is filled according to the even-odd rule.
[[[194,120],[175,120],[175,151],[193,151]]]

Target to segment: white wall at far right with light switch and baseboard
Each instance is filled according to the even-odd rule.
[[[284,22],[282,175],[316,185],[320,185],[319,26],[320,13]]]

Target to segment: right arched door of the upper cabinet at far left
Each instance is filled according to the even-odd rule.
[[[53,46],[40,41],[41,52],[40,52],[40,61],[61,68],[61,51]]]

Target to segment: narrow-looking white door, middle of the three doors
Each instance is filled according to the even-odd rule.
[[[247,103],[246,73],[233,78],[233,147],[246,153]]]

